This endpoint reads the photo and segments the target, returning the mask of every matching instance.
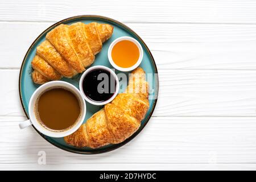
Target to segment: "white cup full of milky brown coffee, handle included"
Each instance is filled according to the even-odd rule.
[[[64,81],[41,85],[30,98],[30,119],[19,123],[20,129],[30,125],[49,137],[65,137],[82,125],[86,105],[79,89]]]

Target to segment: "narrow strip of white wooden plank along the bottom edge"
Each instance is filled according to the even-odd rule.
[[[199,171],[199,170],[239,170],[248,171],[255,170],[256,164],[0,164],[0,169],[5,170],[88,170],[88,171],[106,171],[106,169],[120,171],[159,171],[159,170],[174,170],[174,171]]]

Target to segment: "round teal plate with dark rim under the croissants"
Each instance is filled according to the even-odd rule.
[[[142,60],[141,65],[139,65],[139,66],[142,67],[146,73],[158,73],[158,71],[156,69],[154,58],[152,57],[151,52],[148,49],[148,47],[146,46],[146,44],[133,30],[131,30],[129,27],[125,26],[125,24],[122,24],[114,19],[106,18],[104,16],[97,16],[97,15],[81,15],[81,16],[74,16],[71,18],[61,20],[60,22],[57,22],[57,23],[53,24],[51,27],[47,28],[45,31],[43,31],[42,34],[40,34],[38,36],[38,38],[36,38],[34,43],[32,43],[32,45],[28,49],[26,56],[24,57],[22,66],[20,68],[19,95],[20,95],[20,101],[22,102],[24,113],[27,115],[27,118],[29,118],[28,103],[30,101],[30,97],[32,96],[32,93],[40,86],[38,84],[34,84],[34,82],[32,82],[32,78],[31,78],[31,72],[32,72],[31,61],[32,61],[33,57],[35,56],[36,47],[46,39],[47,32],[51,31],[53,28],[55,28],[59,24],[61,24],[61,23],[72,24],[75,22],[108,23],[108,24],[112,24],[112,26],[114,27],[114,32],[113,32],[112,37],[103,44],[101,52],[96,55],[96,60],[94,61],[94,63],[91,66],[105,65],[106,67],[113,68],[108,61],[108,48],[109,48],[110,43],[112,43],[113,40],[119,38],[120,36],[131,36],[131,37],[137,39],[139,43],[141,43],[143,51],[144,51],[143,60]],[[116,73],[118,73],[118,72],[116,72]],[[67,81],[67,82],[75,85],[77,88],[79,88],[80,76],[81,76],[81,74],[77,75],[73,78],[69,78],[69,79],[63,78],[61,80]],[[155,77],[155,79],[151,79],[153,81],[150,81],[149,84],[150,84],[151,88],[153,85],[156,85],[155,88],[152,89],[153,91],[151,92],[151,97],[154,97],[155,99],[150,100],[150,108],[147,111],[146,117],[141,122],[141,127],[137,130],[136,133],[134,133],[130,138],[126,139],[122,143],[109,144],[107,146],[96,148],[96,149],[89,148],[89,147],[78,148],[78,147],[74,147],[74,146],[70,146],[70,145],[66,144],[64,142],[63,138],[47,137],[46,135],[39,133],[39,131],[36,130],[34,126],[33,127],[49,143],[65,150],[65,151],[75,152],[77,154],[99,154],[102,152],[112,151],[118,147],[123,146],[124,144],[129,142],[131,139],[133,139],[136,135],[138,135],[141,132],[141,130],[143,129],[143,127],[147,124],[148,120],[150,119],[150,117],[155,109],[155,105],[156,105],[156,101],[157,101],[156,96],[158,95],[158,78],[156,78],[157,76],[154,74],[153,74],[153,77]],[[86,120],[88,118],[90,118],[94,113],[96,113],[96,111],[100,110],[101,107],[102,106],[94,106],[94,105],[91,105],[88,102],[86,102],[86,117],[85,117],[84,122],[86,122]]]

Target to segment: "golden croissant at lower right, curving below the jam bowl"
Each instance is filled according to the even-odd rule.
[[[98,148],[110,143],[121,143],[139,129],[149,107],[148,83],[142,68],[132,73],[125,93],[118,94],[75,133],[64,137],[66,143]]]

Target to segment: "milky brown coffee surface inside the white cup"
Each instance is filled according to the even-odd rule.
[[[44,92],[38,99],[37,115],[42,125],[51,130],[65,130],[80,117],[79,100],[69,90],[55,88]]]

